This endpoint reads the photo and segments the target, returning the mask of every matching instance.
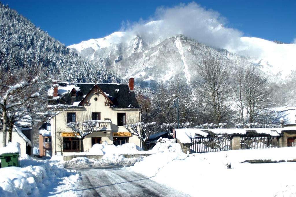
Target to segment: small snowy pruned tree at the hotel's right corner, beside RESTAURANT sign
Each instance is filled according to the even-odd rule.
[[[135,116],[127,116],[127,123],[125,128],[130,132],[132,135],[136,135],[142,142],[142,148],[144,150],[148,150],[147,148],[147,140],[149,139],[150,135],[154,133],[155,129],[155,122],[138,122],[138,119]]]

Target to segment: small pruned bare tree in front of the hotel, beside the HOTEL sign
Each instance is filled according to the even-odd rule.
[[[65,121],[67,122],[67,116],[64,117]],[[76,121],[75,122],[69,122],[67,123],[67,126],[69,126],[72,131],[75,134],[75,137],[80,139],[81,142],[81,152],[84,152],[83,149],[83,140],[84,138],[92,134],[94,132],[94,129],[96,128],[97,120],[91,120],[91,112],[78,112]]]

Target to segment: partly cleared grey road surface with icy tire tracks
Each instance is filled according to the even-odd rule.
[[[82,196],[181,196],[189,195],[161,185],[126,168],[80,168],[82,175],[77,191]]]

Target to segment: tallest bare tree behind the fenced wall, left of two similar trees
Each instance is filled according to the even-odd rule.
[[[231,115],[231,81],[227,65],[217,56],[203,57],[197,66],[200,80],[195,84],[198,94],[210,111],[216,124],[226,121]]]

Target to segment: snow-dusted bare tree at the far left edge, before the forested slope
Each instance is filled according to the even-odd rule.
[[[5,81],[0,80],[0,112],[3,118],[3,146],[6,146],[7,131],[9,142],[12,141],[12,129],[17,121],[28,120],[33,114],[46,115],[40,112],[38,100],[47,100],[47,88],[52,84],[52,78],[41,76],[36,71],[33,75],[20,69],[20,77],[11,77]],[[20,81],[19,81],[20,80]],[[48,110],[48,109],[46,109]]]

